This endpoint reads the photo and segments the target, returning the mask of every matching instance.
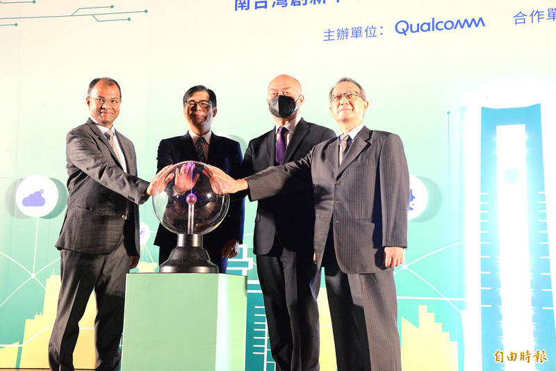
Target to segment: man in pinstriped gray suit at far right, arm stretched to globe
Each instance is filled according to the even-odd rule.
[[[316,261],[325,267],[338,371],[401,370],[393,268],[407,247],[409,172],[398,135],[363,125],[361,85],[341,79],[329,95],[342,135],[304,158],[234,181],[211,168],[224,192],[250,199],[312,186]]]

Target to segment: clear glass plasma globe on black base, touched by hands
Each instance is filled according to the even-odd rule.
[[[174,177],[152,197],[154,213],[168,230],[205,234],[226,217],[229,196],[222,195],[205,166],[197,161],[172,165]]]

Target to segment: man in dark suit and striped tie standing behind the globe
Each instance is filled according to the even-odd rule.
[[[216,111],[216,94],[211,89],[203,85],[190,88],[183,95],[183,115],[186,117],[189,130],[185,135],[161,140],[158,145],[157,169],[193,160],[218,166],[231,176],[239,176],[239,143],[215,135],[211,131]],[[232,197],[224,221],[203,237],[203,247],[211,261],[218,265],[220,273],[226,273],[228,258],[233,258],[239,253],[239,245],[243,240],[243,216],[243,197]],[[160,247],[159,265],[167,260],[176,244],[177,235],[160,224],[154,239],[154,245]]]

